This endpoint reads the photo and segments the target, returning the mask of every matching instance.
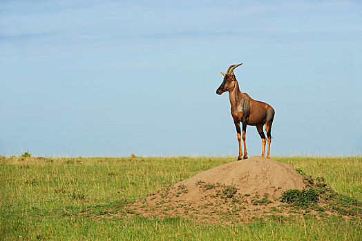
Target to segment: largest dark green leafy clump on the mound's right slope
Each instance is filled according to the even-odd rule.
[[[284,191],[280,202],[287,202],[288,204],[298,207],[307,207],[310,204],[318,201],[318,193],[314,189],[298,190],[290,189]]]

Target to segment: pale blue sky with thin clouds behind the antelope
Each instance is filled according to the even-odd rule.
[[[0,154],[237,156],[220,72],[272,155],[362,147],[360,1],[0,1]],[[249,156],[260,155],[255,127]]]

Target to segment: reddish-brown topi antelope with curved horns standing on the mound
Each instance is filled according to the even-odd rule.
[[[242,93],[239,90],[239,84],[236,80],[234,70],[236,67],[242,65],[242,63],[238,65],[230,65],[227,69],[227,73],[224,74],[221,72],[222,76],[224,76],[224,81],[222,81],[218,90],[216,90],[216,94],[222,94],[224,92],[229,92],[229,99],[231,104],[231,116],[233,116],[234,124],[236,127],[236,134],[238,135],[239,142],[239,156],[238,160],[241,160],[241,133],[240,133],[240,121],[242,123],[242,141],[244,143],[244,159],[247,159],[247,146],[245,144],[245,134],[247,132],[247,125],[255,125],[256,129],[258,129],[258,133],[263,140],[263,151],[261,156],[264,156],[265,153],[265,134],[263,132],[263,126],[265,125],[265,130],[267,131],[268,137],[268,151],[267,158],[270,158],[270,142],[272,141],[271,130],[272,123],[274,119],[274,109],[267,103],[256,101],[250,98],[250,96],[246,93]]]

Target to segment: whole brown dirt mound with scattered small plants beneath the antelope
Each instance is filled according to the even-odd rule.
[[[303,180],[290,165],[254,156],[202,171],[135,202],[132,208],[142,216],[243,220],[251,211],[258,216],[278,210],[281,193],[303,189]]]

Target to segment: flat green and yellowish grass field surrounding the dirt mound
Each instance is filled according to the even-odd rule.
[[[273,157],[323,176],[362,201],[362,157]],[[0,157],[1,240],[362,240],[359,218],[258,220],[241,225],[184,218],[109,216],[155,191],[236,158]]]

